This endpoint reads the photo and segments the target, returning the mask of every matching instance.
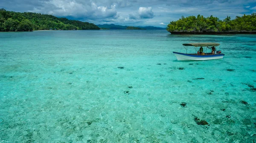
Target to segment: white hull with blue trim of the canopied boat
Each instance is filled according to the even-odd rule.
[[[211,60],[211,59],[223,59],[224,54],[214,54],[214,55],[196,55],[196,54],[186,54],[173,52],[178,61],[190,61],[190,60]]]

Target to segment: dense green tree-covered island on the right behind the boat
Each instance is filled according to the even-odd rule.
[[[186,18],[182,16],[181,19],[170,22],[166,30],[172,34],[256,34],[256,13],[237,16],[234,20],[228,16],[224,20],[219,20],[218,17],[212,15]]]

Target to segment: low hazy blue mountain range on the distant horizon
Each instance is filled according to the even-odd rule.
[[[138,26],[138,27],[134,27],[134,26],[122,26],[122,25],[114,25],[114,24],[103,24],[103,25],[97,25],[99,28],[101,29],[108,29],[108,30],[141,30],[141,29],[148,29],[148,30],[162,30],[162,29],[166,29],[166,28],[160,28],[160,27],[154,27],[154,26]]]

